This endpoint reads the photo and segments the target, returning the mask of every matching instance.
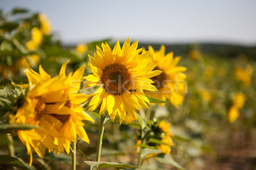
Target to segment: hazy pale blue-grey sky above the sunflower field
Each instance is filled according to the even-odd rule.
[[[0,0],[47,14],[65,43],[117,38],[256,44],[256,0]]]

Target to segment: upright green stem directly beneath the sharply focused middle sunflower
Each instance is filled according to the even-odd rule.
[[[104,113],[100,116],[100,123],[99,123],[99,136],[98,136],[98,144],[97,144],[97,154],[96,154],[96,161],[100,161],[100,154],[101,154],[101,147],[102,147],[102,138],[104,133],[104,125],[105,125],[105,118],[108,113]]]

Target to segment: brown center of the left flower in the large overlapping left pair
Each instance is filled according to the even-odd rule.
[[[34,108],[34,115],[32,117],[28,117],[26,119],[26,124],[37,124],[38,121],[41,120],[45,108],[45,103],[41,97],[32,98],[31,100],[32,108]]]

